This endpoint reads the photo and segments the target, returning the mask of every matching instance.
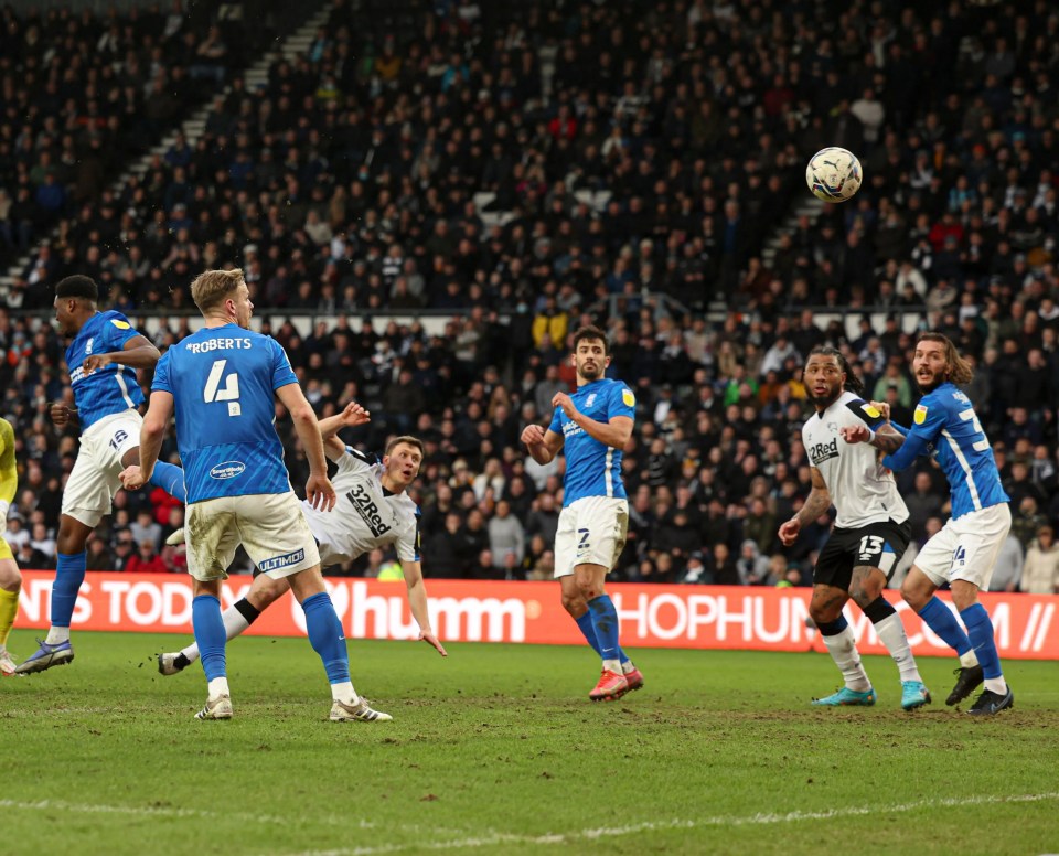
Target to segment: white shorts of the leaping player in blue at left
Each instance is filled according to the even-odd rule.
[[[139,447],[142,425],[143,417],[130,408],[88,427],[63,491],[63,514],[95,528],[110,513],[121,486],[121,458]]]

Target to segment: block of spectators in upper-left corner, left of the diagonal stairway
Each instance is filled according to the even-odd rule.
[[[265,43],[263,28],[228,29],[207,7],[0,9],[0,263],[63,218],[99,217],[104,190],[130,160]],[[119,243],[104,218],[96,225],[97,247]],[[46,290],[65,249],[60,239],[39,254],[26,283]]]

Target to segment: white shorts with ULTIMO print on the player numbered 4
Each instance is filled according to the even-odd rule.
[[[320,564],[317,542],[293,491],[192,503],[188,506],[184,543],[188,573],[202,582],[228,578],[227,568],[239,544],[272,579]]]

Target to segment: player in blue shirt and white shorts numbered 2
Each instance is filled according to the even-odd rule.
[[[584,327],[574,334],[570,362],[577,372],[577,390],[557,393],[547,431],[539,425],[526,426],[522,441],[537,463],[550,462],[566,448],[555,576],[564,609],[603,662],[599,683],[588,697],[611,702],[643,686],[640,670],[621,650],[618,611],[603,590],[629,527],[621,453],[632,435],[637,399],[623,383],[603,377],[610,352],[599,328]]]

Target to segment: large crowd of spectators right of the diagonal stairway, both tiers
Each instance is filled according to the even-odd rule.
[[[1059,12],[1045,0],[393,6],[408,13],[386,30],[335,4],[260,90],[228,75],[200,140],[179,138],[142,179],[61,221],[12,309],[45,307],[58,277],[86,272],[109,306],[163,315],[165,346],[186,331],[193,274],[242,267],[321,415],[356,398],[374,418],[351,440],[426,441],[427,573],[499,578],[549,574],[561,461],[536,466],[517,437],[569,388],[569,334],[602,323],[611,373],[639,400],[618,577],[746,585],[805,584],[830,526],[790,549],[775,538],[809,490],[809,350],[841,346],[907,422],[900,314],[919,312],[978,370],[969,394],[1015,515],[1003,587],[1020,585],[1016,566],[1046,587]],[[824,145],[856,151],[865,185],[784,231],[766,263]],[[616,296],[608,315],[601,299]],[[874,325],[873,309],[887,321]],[[853,335],[819,322],[859,310]],[[451,320],[439,335],[372,321],[419,313]],[[319,323],[302,335],[295,314]],[[67,394],[62,346],[24,311],[0,315],[0,346],[3,409],[23,427],[8,534],[42,565],[76,451],[45,421]],[[923,463],[900,480],[921,542],[948,513],[944,479]],[[162,541],[181,514],[158,492],[120,493],[89,561],[179,568]]]

